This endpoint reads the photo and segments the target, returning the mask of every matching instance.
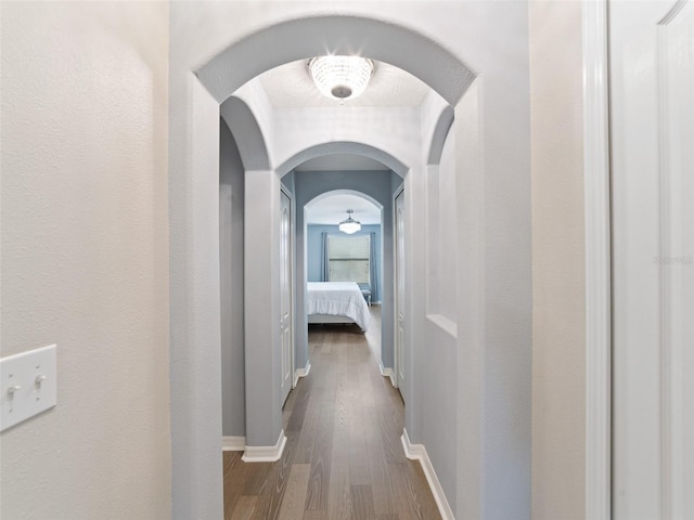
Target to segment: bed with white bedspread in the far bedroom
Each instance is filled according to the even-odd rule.
[[[309,282],[308,323],[356,323],[369,330],[371,314],[356,282]]]

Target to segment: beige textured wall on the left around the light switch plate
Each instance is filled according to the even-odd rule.
[[[1,355],[57,343],[57,405],[0,517],[168,518],[168,4],[1,9]]]

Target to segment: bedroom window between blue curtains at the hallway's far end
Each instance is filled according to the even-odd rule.
[[[369,235],[327,237],[330,282],[369,283]]]

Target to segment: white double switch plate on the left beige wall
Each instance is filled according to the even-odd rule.
[[[0,359],[0,431],[55,406],[55,346]]]

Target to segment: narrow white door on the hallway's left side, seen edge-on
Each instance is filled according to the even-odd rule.
[[[280,194],[280,333],[282,335],[282,403],[292,390],[294,349],[292,348],[292,200]]]

